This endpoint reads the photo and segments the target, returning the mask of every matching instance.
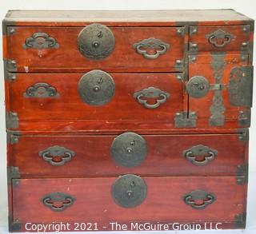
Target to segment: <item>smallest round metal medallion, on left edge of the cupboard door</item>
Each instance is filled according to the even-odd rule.
[[[190,97],[204,97],[209,92],[209,89],[209,81],[202,76],[191,77],[186,83],[186,91],[189,93]]]

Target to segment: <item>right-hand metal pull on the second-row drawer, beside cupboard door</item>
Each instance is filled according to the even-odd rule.
[[[170,93],[164,92],[154,87],[142,89],[134,93],[134,98],[137,99],[138,103],[143,104],[148,109],[158,108],[159,105],[166,102],[170,97]],[[154,99],[154,104],[149,104],[149,99]]]

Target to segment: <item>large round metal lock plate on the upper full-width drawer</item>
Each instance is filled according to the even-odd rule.
[[[146,158],[146,141],[136,133],[122,133],[114,139],[110,154],[117,165],[127,168],[138,166]]]

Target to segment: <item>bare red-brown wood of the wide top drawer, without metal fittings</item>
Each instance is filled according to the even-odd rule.
[[[180,71],[176,60],[184,57],[184,38],[178,27],[111,27],[114,34],[114,51],[109,57],[90,60],[78,50],[78,34],[83,27],[14,27],[15,34],[8,37],[8,57],[14,59],[19,72],[85,72],[90,69],[106,71]],[[24,49],[26,38],[43,32],[55,38],[58,49]],[[147,38],[157,38],[170,44],[166,54],[156,59],[146,59],[134,50],[134,43]]]

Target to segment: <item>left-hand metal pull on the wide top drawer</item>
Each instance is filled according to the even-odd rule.
[[[50,49],[58,48],[58,43],[54,38],[50,38],[48,34],[45,33],[35,33],[30,38],[26,38],[23,44],[24,49],[34,48],[34,49]]]

